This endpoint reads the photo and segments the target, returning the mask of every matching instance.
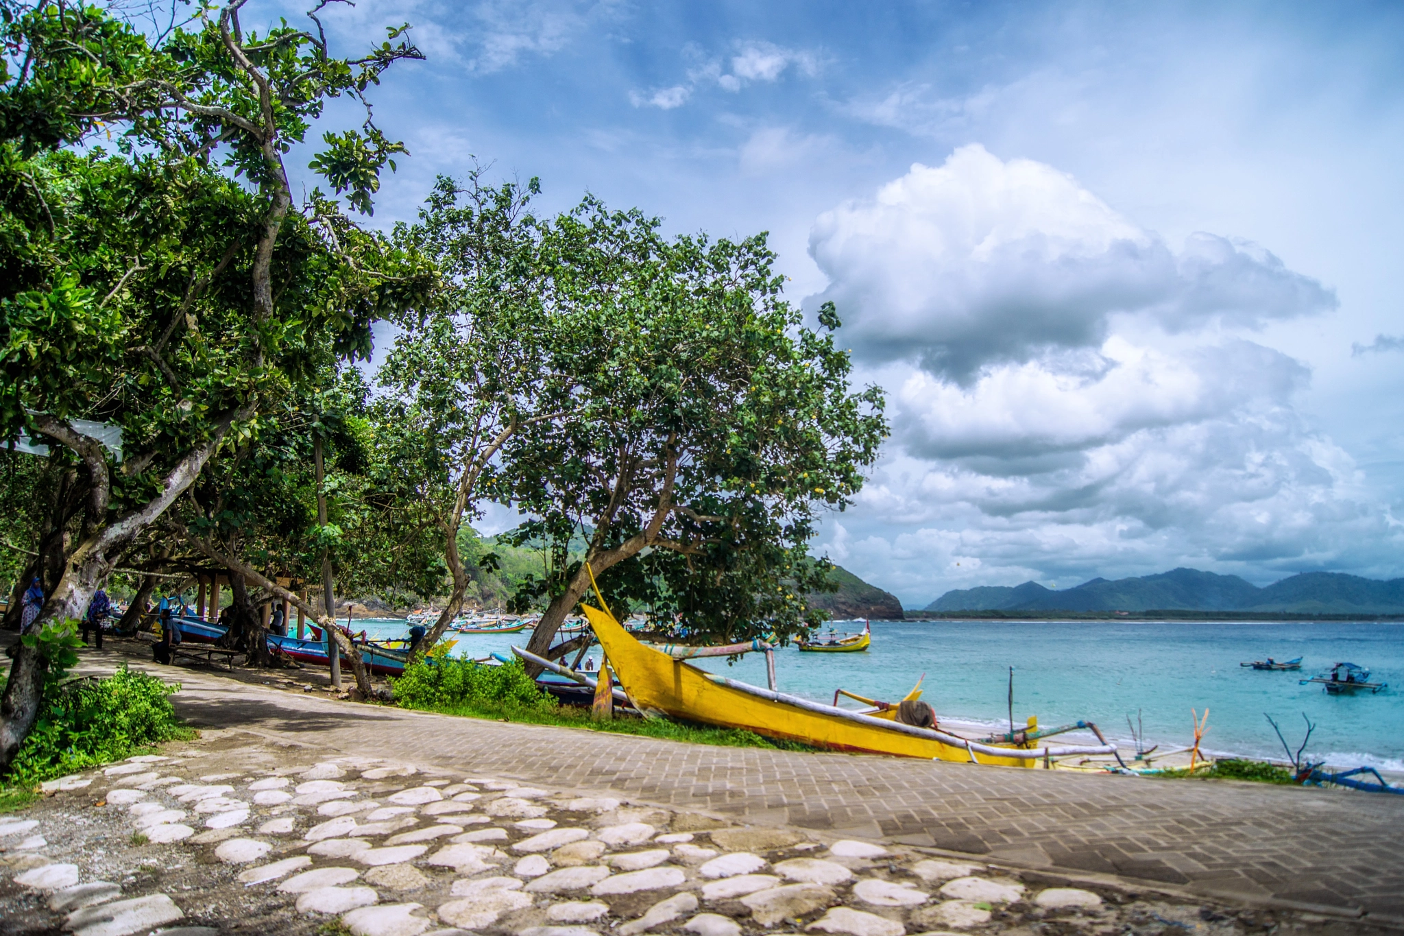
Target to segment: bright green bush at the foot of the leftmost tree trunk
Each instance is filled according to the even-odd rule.
[[[77,679],[46,693],[44,711],[4,775],[7,784],[41,780],[121,761],[190,735],[176,720],[168,685],[125,667],[105,679]]]

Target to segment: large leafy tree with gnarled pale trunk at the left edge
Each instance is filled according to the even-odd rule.
[[[244,34],[244,0],[150,39],[101,7],[3,3],[0,441],[62,449],[83,493],[42,630],[84,613],[265,399],[309,377],[320,342],[364,354],[371,320],[421,289],[411,258],[320,192],[296,206],[284,166],[329,98],[364,100],[421,56],[392,29],[334,58],[316,15]],[[118,156],[88,146],[100,133]],[[323,140],[313,168],[369,212],[403,147],[369,116]],[[122,459],[76,418],[119,427]],[[0,700],[0,770],[35,718],[42,643],[25,637]]]

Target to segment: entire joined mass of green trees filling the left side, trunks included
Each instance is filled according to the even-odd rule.
[[[851,386],[840,310],[807,324],[764,234],[670,237],[595,198],[541,216],[535,178],[476,164],[414,223],[375,227],[404,146],[368,95],[423,56],[409,27],[331,49],[336,8],[258,34],[246,0],[164,29],[0,0],[0,443],[49,450],[0,459],[0,568],[46,596],[0,700],[0,770],[45,647],[124,568],[149,588],[223,567],[251,662],[254,602],[326,624],[333,577],[432,599],[425,646],[491,594],[543,609],[546,653],[592,581],[702,640],[821,617],[816,522],[887,432],[882,393]],[[338,98],[365,119],[329,118]],[[326,191],[295,196],[291,159]],[[470,525],[489,504],[525,521],[487,543]],[[320,612],[279,577],[320,582]]]

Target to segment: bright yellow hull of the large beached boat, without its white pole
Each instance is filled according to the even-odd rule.
[[[998,766],[1026,768],[1032,761],[998,755],[972,755],[965,748],[935,738],[921,738],[849,721],[842,717],[772,702],[717,683],[713,678],[681,660],[644,647],[612,616],[584,606],[619,685],[643,713],[661,713],[674,718],[701,721],[724,728],[744,728],[757,734],[799,741],[830,751],[887,754],[927,761],[958,761]]]

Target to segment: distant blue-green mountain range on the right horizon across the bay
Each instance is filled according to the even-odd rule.
[[[1094,578],[1054,591],[1038,582],[1014,588],[949,591],[927,610],[1251,610],[1296,615],[1404,613],[1404,578],[1377,581],[1342,573],[1302,573],[1258,588],[1237,575],[1175,568],[1158,575]]]

